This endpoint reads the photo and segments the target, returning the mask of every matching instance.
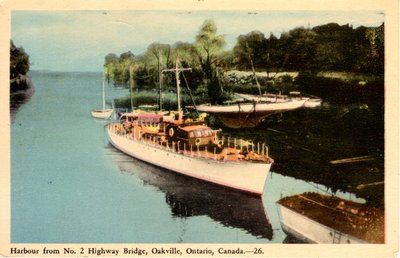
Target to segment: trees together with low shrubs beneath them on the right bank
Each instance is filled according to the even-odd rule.
[[[130,51],[120,56],[108,54],[105,57],[105,71],[107,78],[117,85],[130,85],[132,78],[134,89],[157,92],[160,71],[174,68],[179,59],[181,67],[192,68],[191,72],[180,74],[182,87],[188,85],[195,96],[201,95],[201,101],[211,103],[221,103],[232,91],[259,93],[257,86],[253,87],[256,82],[254,75],[250,78],[251,82],[246,81],[242,85],[232,83],[225,72],[234,69],[266,71],[266,78],[258,77],[262,92],[267,90],[270,93],[285,94],[292,90],[302,90],[328,99],[336,96],[350,101],[346,93],[371,96],[369,92],[380,91],[382,88],[369,88],[381,83],[375,79],[369,79],[365,87],[361,88],[359,82],[363,81],[362,78],[350,76],[353,80],[344,81],[341,78],[317,75],[321,72],[346,72],[382,78],[384,24],[356,29],[348,24],[336,23],[314,28],[298,27],[282,33],[280,38],[272,33],[267,38],[263,32],[251,31],[239,35],[232,50],[224,50],[224,45],[224,36],[218,34],[215,22],[206,20],[200,26],[193,43],[178,41],[169,45],[153,42],[141,55],[134,55]],[[290,76],[269,76],[271,72],[281,71],[300,72],[300,76],[295,81]],[[162,84],[163,90],[174,90],[175,75],[163,73]],[[333,88],[337,88],[337,92],[329,94]]]

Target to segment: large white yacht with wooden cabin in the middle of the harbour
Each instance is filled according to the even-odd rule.
[[[265,144],[219,139],[201,121],[137,114],[106,126],[110,143],[150,164],[228,188],[262,195],[273,160]]]

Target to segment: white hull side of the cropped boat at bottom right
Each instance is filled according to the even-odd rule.
[[[316,222],[277,203],[283,231],[303,242],[317,244],[367,244],[368,242]]]

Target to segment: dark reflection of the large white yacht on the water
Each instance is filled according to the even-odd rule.
[[[112,146],[119,169],[139,177],[145,185],[165,193],[172,216],[208,216],[226,227],[240,228],[271,240],[273,230],[261,198],[168,172],[126,156]]]

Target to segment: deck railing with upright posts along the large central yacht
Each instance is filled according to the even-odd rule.
[[[254,144],[242,139],[231,139],[230,137],[222,136],[217,141],[217,145],[200,147],[180,140],[168,141],[160,135],[145,133],[139,129],[136,130],[136,127],[133,127],[132,131],[128,131],[119,123],[110,123],[108,126],[112,133],[129,140],[139,141],[142,144],[184,156],[223,161],[251,160],[261,162],[270,160],[268,146],[265,143]]]

